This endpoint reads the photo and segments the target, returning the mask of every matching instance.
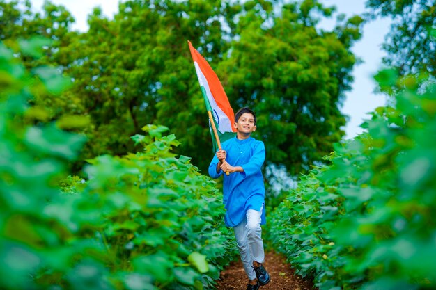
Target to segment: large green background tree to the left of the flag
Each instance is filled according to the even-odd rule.
[[[208,23],[226,14],[228,4],[221,7],[220,3],[125,1],[113,20],[102,17],[98,8],[93,11],[89,31],[68,47],[70,64],[65,67],[75,79],[69,93],[81,98],[85,113],[91,115],[91,141],[85,154],[134,151],[130,136],[154,123],[176,132],[183,141],[179,152],[206,151],[210,158],[210,150],[189,142],[203,135],[201,145],[210,147],[187,40],[203,38],[212,47],[212,56],[225,51],[219,22]],[[198,98],[194,107],[189,104],[193,98]],[[180,120],[176,113],[185,116]]]

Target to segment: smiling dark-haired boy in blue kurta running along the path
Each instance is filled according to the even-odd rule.
[[[247,290],[258,290],[270,282],[262,263],[265,259],[262,228],[265,224],[265,186],[260,168],[265,161],[265,145],[250,135],[256,131],[256,114],[241,108],[235,114],[236,137],[226,140],[209,166],[209,175],[217,178],[223,172],[226,208],[225,223],[233,227],[236,242],[249,277]]]

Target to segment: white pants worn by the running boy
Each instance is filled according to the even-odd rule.
[[[261,214],[262,209],[260,209],[260,211],[249,209],[247,211],[247,217],[244,218],[239,225],[233,227],[242,264],[244,264],[244,270],[245,273],[247,273],[249,280],[256,279],[254,269],[251,267],[253,266],[253,261],[263,263],[265,259],[265,252],[263,251],[262,227],[260,227]]]

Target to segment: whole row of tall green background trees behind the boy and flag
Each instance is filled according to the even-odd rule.
[[[44,57],[23,58],[26,67],[54,65],[73,80],[60,96],[36,95],[30,117],[75,119],[77,127],[60,123],[88,137],[82,161],[139,150],[127,136],[163,124],[180,140],[176,153],[206,172],[212,145],[187,40],[210,61],[235,111],[258,113],[256,137],[267,145],[268,162],[295,175],[344,134],[338,106],[352,81],[360,17],[317,31],[319,17],[332,15],[318,1],[129,0],[114,19],[95,8],[90,29],[77,33],[62,6],[46,3],[40,15],[17,3],[24,1],[1,4],[1,39],[15,47],[17,38],[47,36]]]

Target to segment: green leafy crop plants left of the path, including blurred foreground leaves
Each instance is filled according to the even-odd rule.
[[[0,51],[0,288],[212,288],[235,245],[215,182],[171,152],[175,136],[148,125],[133,137],[142,152],[65,179],[84,136],[25,120],[32,93],[59,92],[63,78]]]

